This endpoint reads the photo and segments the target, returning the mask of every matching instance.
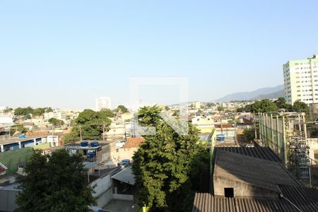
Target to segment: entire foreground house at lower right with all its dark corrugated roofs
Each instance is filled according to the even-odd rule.
[[[210,192],[196,193],[193,212],[318,211],[318,190],[304,187],[269,147],[213,149]]]

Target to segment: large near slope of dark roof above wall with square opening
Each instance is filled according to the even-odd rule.
[[[221,177],[255,187],[281,192],[278,185],[302,187],[281,163],[251,158],[229,151],[216,151],[213,178]]]

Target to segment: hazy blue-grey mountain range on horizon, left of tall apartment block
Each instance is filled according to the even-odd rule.
[[[214,100],[216,102],[230,102],[235,100],[263,100],[273,99],[284,96],[284,86],[276,86],[273,88],[260,88],[251,92],[238,92],[225,95],[223,98]]]

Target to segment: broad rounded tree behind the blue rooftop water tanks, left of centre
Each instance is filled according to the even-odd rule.
[[[79,141],[80,133],[84,140],[99,140],[102,136],[102,131],[107,131],[110,126],[109,117],[113,117],[114,113],[111,110],[94,110],[86,109],[73,121],[75,124],[69,134],[63,136],[64,143]]]

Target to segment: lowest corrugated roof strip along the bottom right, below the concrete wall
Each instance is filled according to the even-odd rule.
[[[317,201],[317,199],[316,199]],[[318,211],[317,204],[302,207],[303,205],[295,204],[301,211]],[[212,196],[208,193],[196,193],[192,212],[273,212],[273,211],[297,211],[300,212],[293,204],[285,199],[254,199],[254,198],[226,198]]]

